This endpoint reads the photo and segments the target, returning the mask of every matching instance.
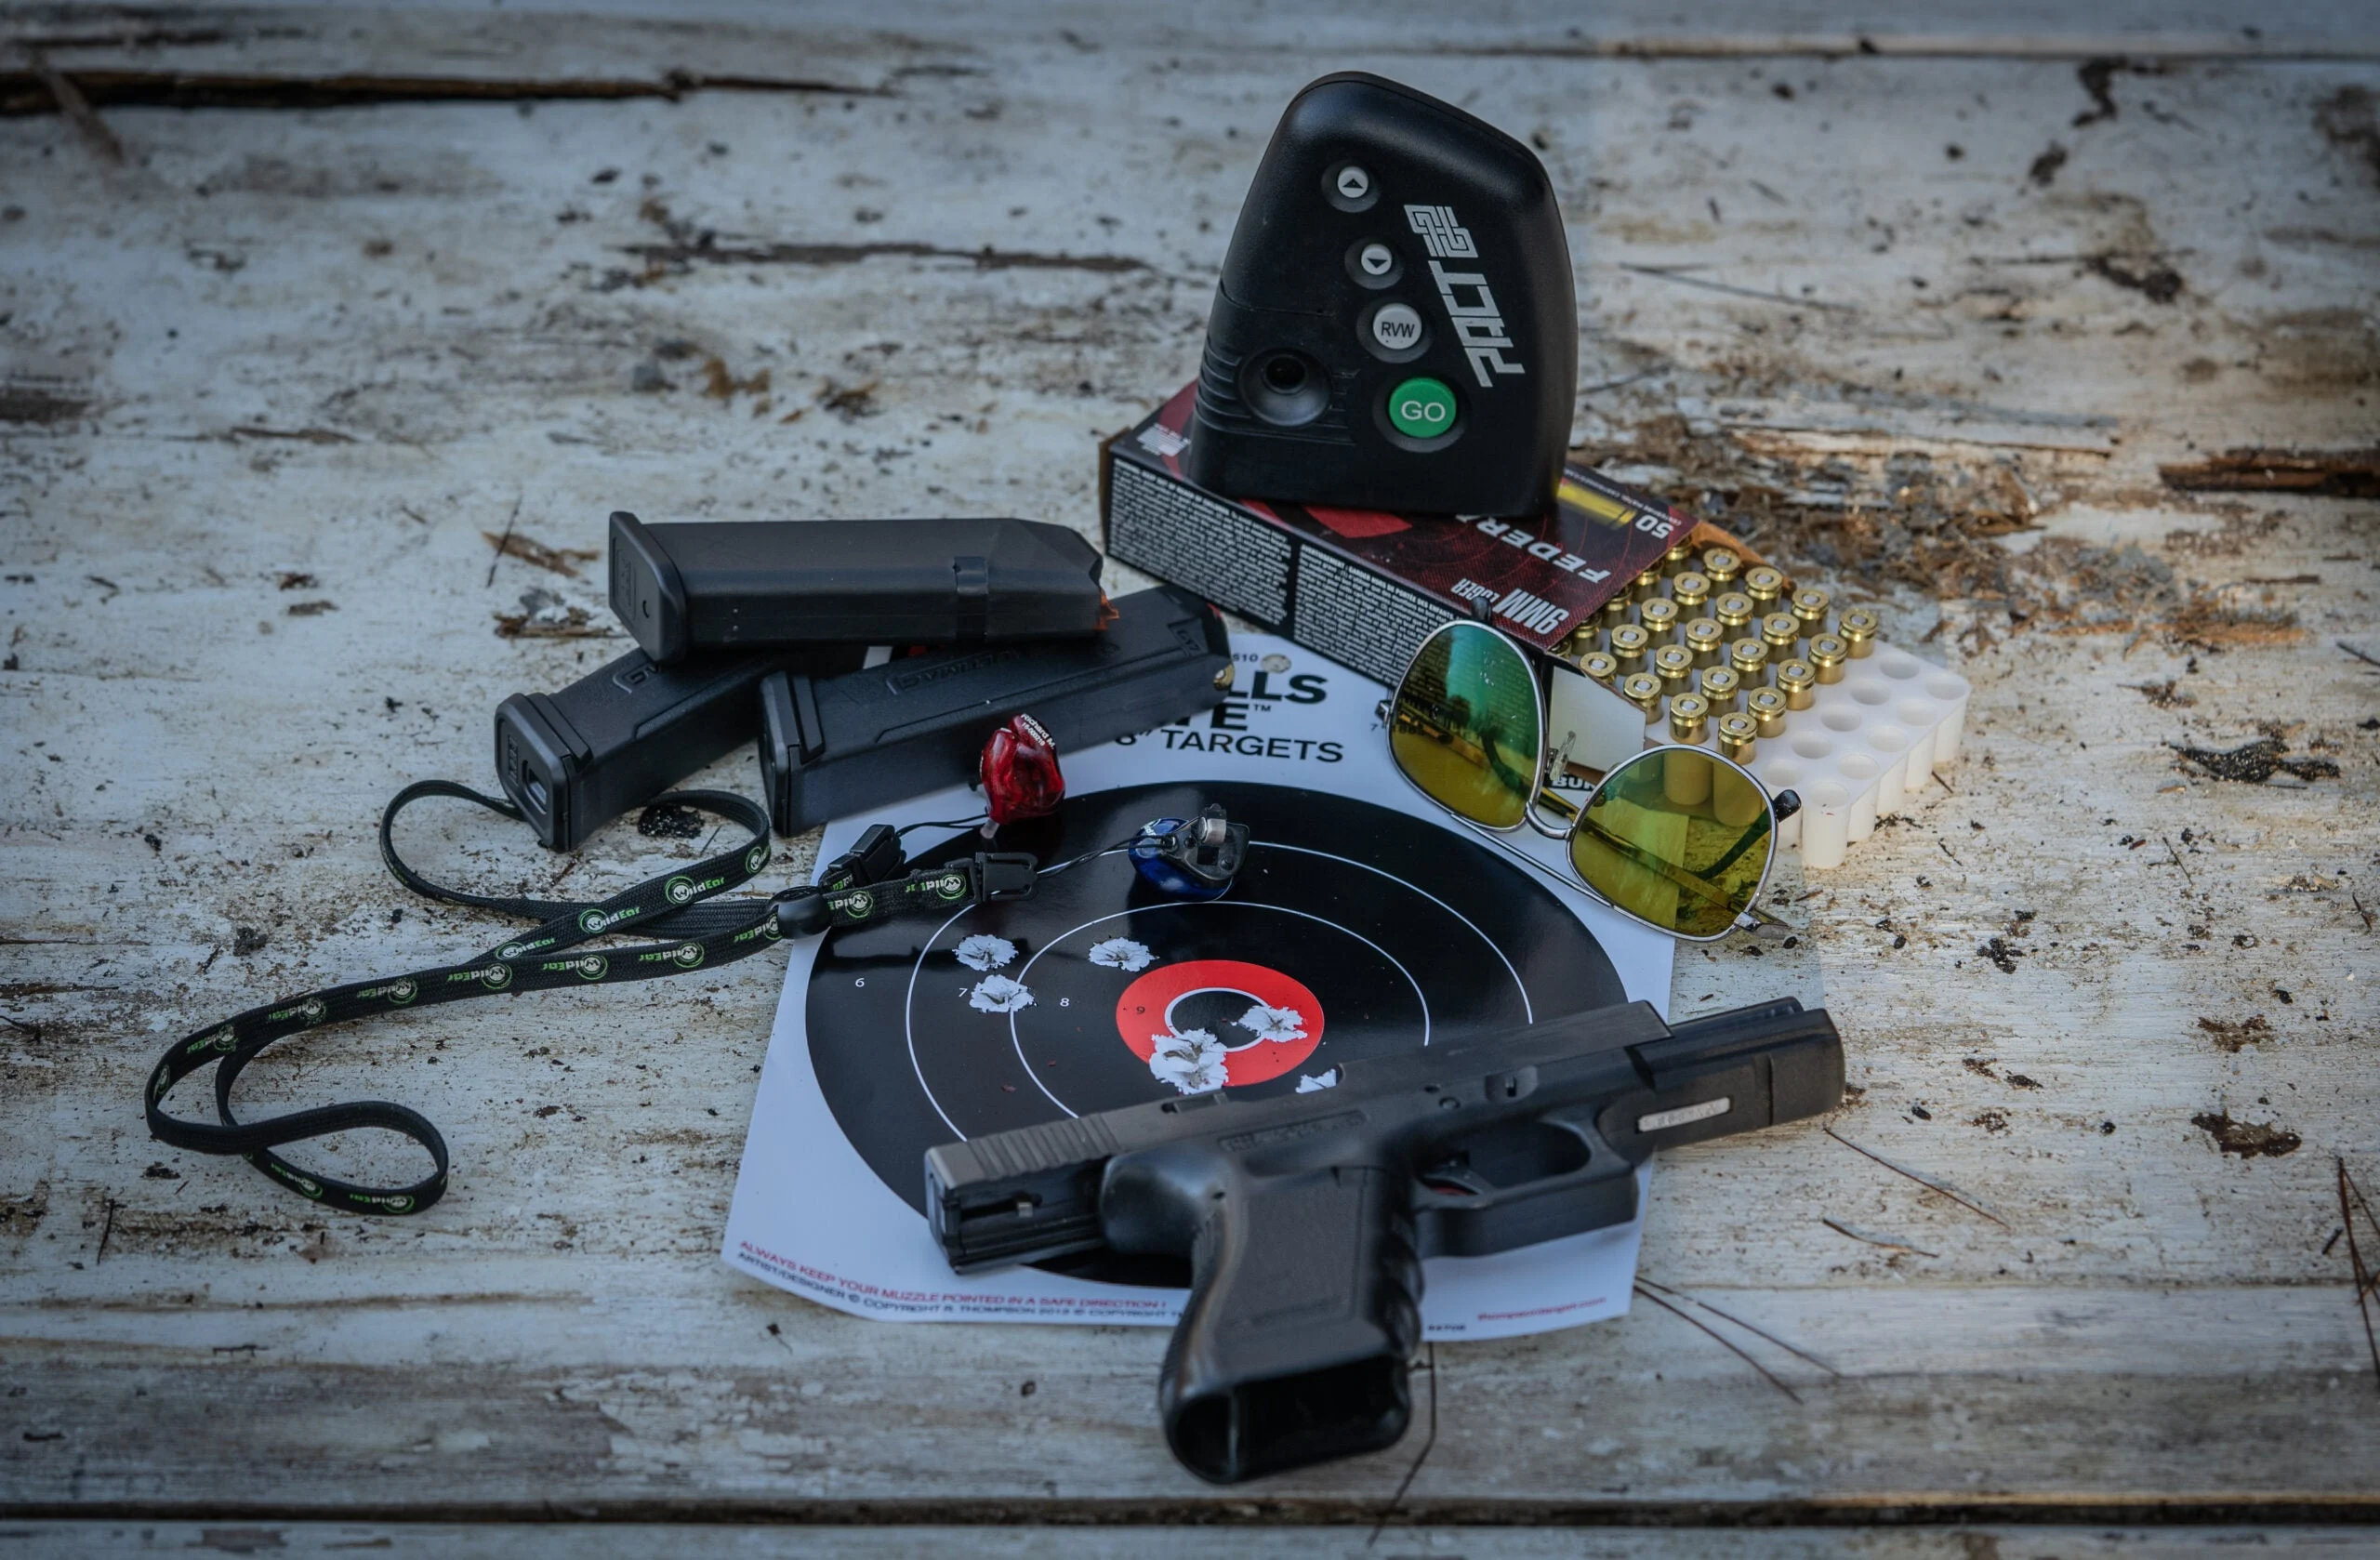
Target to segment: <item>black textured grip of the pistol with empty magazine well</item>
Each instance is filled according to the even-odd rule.
[[[1402,1191],[1385,1167],[1326,1167],[1226,1172],[1200,1193],[1190,1303],[1157,1379],[1183,1467],[1238,1484],[1404,1434],[1421,1258]]]

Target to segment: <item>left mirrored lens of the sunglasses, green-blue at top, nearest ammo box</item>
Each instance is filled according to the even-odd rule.
[[[1511,641],[1478,624],[1423,641],[1397,686],[1388,750],[1433,803],[1490,829],[1516,826],[1542,743],[1537,679]]]

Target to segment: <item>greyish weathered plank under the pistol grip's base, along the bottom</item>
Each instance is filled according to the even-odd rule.
[[[1664,1234],[1676,1238],[1666,1219]],[[1219,1498],[1157,1436],[1159,1331],[885,1327],[657,1260],[376,1267],[393,1293],[359,1296],[347,1274],[293,1258],[205,1293],[186,1288],[188,1265],[129,1262],[95,1269],[107,1300],[14,1308],[10,1415],[24,1429],[0,1446],[7,1486],[33,1505],[159,1517],[240,1510],[259,1477],[290,1515],[481,1520],[555,1503],[819,1520],[990,1498],[1161,1522]],[[2328,1291],[1692,1293],[1840,1377],[1697,1312],[1775,1386],[1647,1305],[1621,1327],[1445,1346],[1440,1439],[1409,1505],[1557,1522],[1730,1508],[2373,1515],[2380,1455],[2356,1434],[2370,1384]],[[209,1429],[221,1424],[240,1431]],[[2309,1465],[2309,1446],[2328,1453]],[[1416,1450],[1245,1496],[1359,1520]]]

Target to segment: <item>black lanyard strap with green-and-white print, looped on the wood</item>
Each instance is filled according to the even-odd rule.
[[[538,922],[528,931],[457,962],[414,969],[409,974],[324,986],[298,998],[267,1003],[209,1024],[167,1050],[150,1072],[143,1105],[150,1134],[174,1148],[240,1155],[283,1186],[343,1212],[407,1215],[421,1212],[447,1188],[447,1146],[419,1110],[390,1100],[352,1100],[293,1110],[264,1122],[243,1122],[231,1107],[231,1088],[240,1072],[274,1041],[293,1034],[369,1019],[412,1007],[438,1007],[481,996],[521,991],[559,991],[576,986],[619,986],[652,981],[688,969],[714,969],[774,948],[788,936],[859,926],[914,910],[954,910],[964,903],[1021,898],[1033,891],[1031,855],[976,855],[945,867],[909,872],[890,881],[847,881],[840,888],[788,888],[769,900],[704,903],[747,884],[769,865],[769,815],[757,803],[728,791],[674,791],[654,805],[681,805],[740,824],[750,838],[733,850],[709,855],[690,867],[650,876],[607,900],[538,900],[466,893],[433,884],[397,855],[390,838],[397,812],[412,803],[443,795],[469,800],[490,812],[519,819],[512,803],[457,786],[419,781],[390,798],[381,812],[381,860],[400,884],[424,898],[474,905]],[[845,857],[847,862],[850,857]],[[835,867],[845,867],[835,862]],[[892,850],[881,860],[897,872],[904,862]],[[831,872],[833,876],[833,872]],[[581,943],[626,934],[662,934],[669,941],[633,943],[569,953]],[[167,1115],[164,1098],[193,1072],[214,1067],[214,1122]],[[412,1186],[362,1186],[338,1177],[312,1174],[283,1160],[286,1143],[321,1138],[333,1131],[376,1127],[412,1138],[431,1155],[431,1174]]]

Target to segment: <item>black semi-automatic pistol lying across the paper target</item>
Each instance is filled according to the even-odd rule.
[[[1411,1419],[1421,1260],[1626,1224],[1654,1148],[1842,1103],[1842,1038],[1785,998],[1671,1029],[1649,1003],[1340,1065],[1259,1100],[1197,1093],[926,1153],[957,1272],[1190,1258],[1157,1379],[1214,1484],[1392,1446]]]

